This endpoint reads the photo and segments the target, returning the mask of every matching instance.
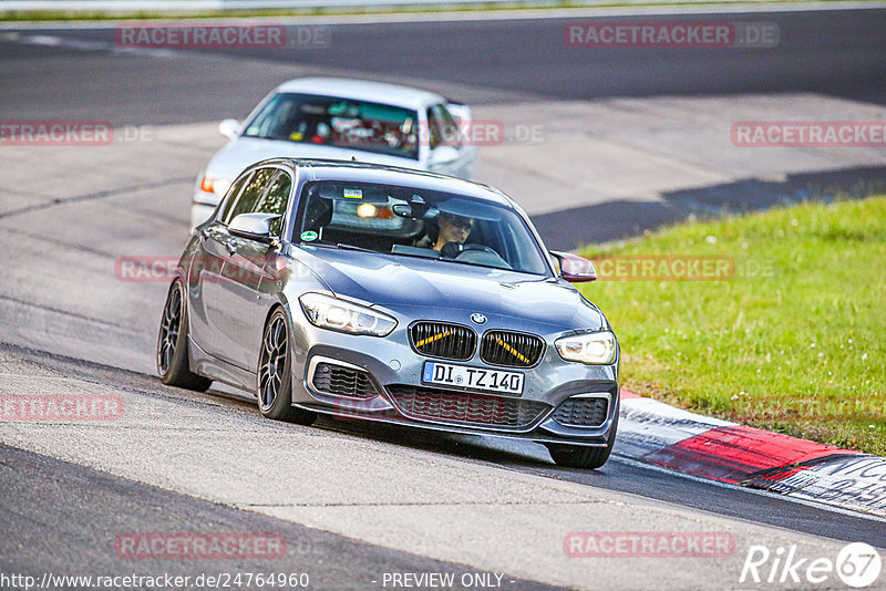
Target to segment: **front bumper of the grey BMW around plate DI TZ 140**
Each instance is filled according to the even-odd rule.
[[[296,308],[293,313],[300,314],[301,310]],[[296,354],[292,357],[291,382],[293,406],[339,417],[449,433],[595,447],[607,445],[619,408],[618,359],[611,365],[585,365],[564,361],[553,343],[569,331],[538,334],[544,338],[546,349],[540,362],[534,367],[492,366],[480,359],[478,351],[468,361],[432,359],[419,354],[410,345],[408,324],[412,319],[398,320],[398,328],[387,338],[357,336],[319,329],[307,322],[303,325],[297,323],[293,331]],[[496,323],[493,318],[490,320],[488,329],[484,329],[491,330],[494,326],[496,330],[513,330],[504,326],[504,322]],[[513,319],[501,320],[513,323]],[[426,361],[523,373],[523,394],[512,396],[425,384],[422,382],[422,373]],[[374,386],[375,395],[363,397],[365,395],[333,394],[329,388],[321,391],[315,382],[317,367],[321,364],[338,364],[350,372],[364,372]],[[410,394],[404,396],[403,392]],[[422,397],[421,407],[432,407],[439,411],[439,416],[429,416],[426,412],[416,413],[414,405],[404,403],[414,403],[419,396]],[[605,419],[588,426],[564,422],[562,405],[570,400],[569,404],[579,400],[593,400],[595,405],[602,404],[598,401],[606,401]],[[474,412],[447,414],[441,411],[443,406],[450,409],[459,406],[461,409],[471,408]],[[562,411],[555,417],[558,408]],[[524,423],[512,421],[508,424],[501,421],[505,416],[513,418],[515,414],[521,417],[530,416],[532,419]]]

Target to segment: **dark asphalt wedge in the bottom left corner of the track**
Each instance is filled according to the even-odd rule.
[[[120,558],[114,551],[113,532],[121,530],[272,531],[286,540],[291,557],[288,572],[308,574],[311,589],[370,588],[382,572],[453,572],[459,578],[475,572],[460,564],[238,511],[4,445],[0,445],[0,483],[4,498],[19,499],[2,504],[3,529],[16,535],[0,540],[0,572],[40,579],[43,572],[62,574],[86,564],[92,572],[110,576],[140,572],[131,560]],[[37,490],[39,502],[21,501]],[[243,558],[169,560],[162,572],[174,577],[195,577],[198,572],[268,572],[266,564]],[[515,589],[553,589],[514,578],[508,582]]]

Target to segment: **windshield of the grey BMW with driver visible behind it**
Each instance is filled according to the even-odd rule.
[[[365,183],[306,185],[297,241],[548,274],[513,209],[460,195]]]

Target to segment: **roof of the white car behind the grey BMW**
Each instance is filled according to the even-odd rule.
[[[347,77],[299,77],[284,82],[277,86],[277,92],[356,98],[415,111],[429,103],[445,102],[439,94],[411,86]]]

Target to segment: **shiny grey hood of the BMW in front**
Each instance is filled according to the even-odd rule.
[[[475,312],[491,322],[517,319],[506,322],[513,329],[543,329],[533,324],[550,330],[608,328],[599,309],[559,279],[326,247],[292,249],[337,296],[411,318],[433,318],[433,310],[443,309],[464,311],[465,320]]]

